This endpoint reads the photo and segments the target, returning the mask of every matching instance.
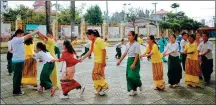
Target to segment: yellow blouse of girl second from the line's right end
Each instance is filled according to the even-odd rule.
[[[193,54],[187,54],[187,58],[192,60],[198,60],[198,50],[197,50],[197,44],[195,42],[192,44],[187,43],[185,45],[184,52],[186,53],[194,52]]]

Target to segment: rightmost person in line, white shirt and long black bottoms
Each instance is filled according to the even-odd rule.
[[[213,72],[213,57],[212,50],[213,44],[210,42],[209,34],[204,33],[202,35],[203,41],[198,46],[199,55],[202,58],[201,70],[205,79],[205,85],[210,84],[211,74]]]

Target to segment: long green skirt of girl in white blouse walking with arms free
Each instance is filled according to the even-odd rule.
[[[137,90],[137,87],[142,85],[140,80],[140,60],[137,61],[135,69],[131,69],[130,66],[133,64],[135,57],[129,57],[127,61],[126,79],[128,91]]]

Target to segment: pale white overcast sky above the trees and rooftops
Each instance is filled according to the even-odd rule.
[[[23,4],[30,8],[33,8],[35,1],[8,1],[9,8],[16,8],[17,5]],[[205,24],[208,26],[213,26],[213,16],[215,16],[215,1],[108,1],[108,11],[109,16],[116,11],[122,11],[123,4],[127,5],[126,8],[134,7],[141,9],[154,10],[154,5],[152,3],[158,3],[156,10],[166,10],[166,11],[175,11],[170,6],[173,3],[178,3],[180,7],[177,11],[183,11],[187,16],[193,18],[197,21],[205,19]],[[52,1],[54,4],[55,1]],[[70,6],[70,1],[58,1],[59,4],[63,6]],[[85,3],[85,10],[91,5],[99,5],[102,12],[106,11],[106,1],[76,1],[75,6],[80,7],[82,3]]]

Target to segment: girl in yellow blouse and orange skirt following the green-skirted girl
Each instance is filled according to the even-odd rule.
[[[158,46],[155,42],[153,35],[147,37],[147,47],[146,51],[141,57],[151,56],[152,61],[152,72],[155,84],[154,90],[165,90],[165,82],[163,80],[163,64],[162,64],[162,54],[160,53]]]

